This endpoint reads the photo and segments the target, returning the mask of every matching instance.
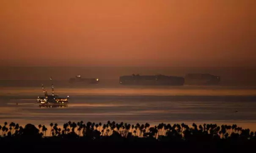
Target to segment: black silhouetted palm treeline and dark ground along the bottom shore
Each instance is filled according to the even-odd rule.
[[[204,124],[193,126],[160,123],[131,125],[128,123],[78,123],[69,121],[62,127],[57,123],[50,126],[5,122],[0,126],[0,145],[8,152],[23,149],[36,152],[61,152],[86,150],[94,152],[237,152],[255,150],[256,132],[242,129],[236,124]],[[50,131],[50,135],[47,135]]]

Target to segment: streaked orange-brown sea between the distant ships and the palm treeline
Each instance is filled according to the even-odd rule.
[[[0,124],[7,121],[20,125],[62,125],[68,121],[108,120],[151,125],[236,123],[256,131],[255,87],[56,86],[55,94],[70,96],[66,108],[40,108],[36,97],[42,94],[41,86],[0,87]]]

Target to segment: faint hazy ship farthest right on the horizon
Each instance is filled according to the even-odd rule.
[[[209,73],[190,73],[185,76],[185,84],[188,85],[217,85],[220,76]]]

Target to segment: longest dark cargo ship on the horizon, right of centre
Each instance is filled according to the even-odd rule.
[[[182,86],[184,78],[166,75],[124,75],[119,77],[122,85],[162,85],[162,86]]]

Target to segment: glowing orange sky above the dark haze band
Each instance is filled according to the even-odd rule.
[[[0,0],[0,65],[256,66],[255,59],[256,0]]]

